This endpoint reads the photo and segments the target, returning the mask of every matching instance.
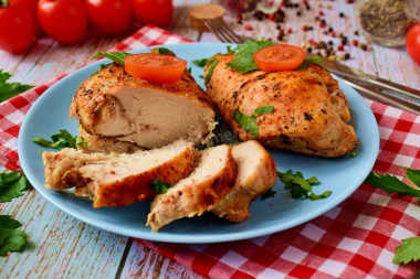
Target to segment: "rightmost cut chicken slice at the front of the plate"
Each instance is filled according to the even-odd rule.
[[[249,207],[252,201],[274,185],[277,170],[274,159],[255,140],[233,146],[232,154],[238,165],[234,186],[212,212],[219,217],[240,223],[251,216]]]

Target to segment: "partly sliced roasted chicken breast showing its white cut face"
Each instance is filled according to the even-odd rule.
[[[112,64],[83,82],[70,109],[92,136],[151,149],[212,136],[214,110],[188,71],[175,84],[129,76]]]

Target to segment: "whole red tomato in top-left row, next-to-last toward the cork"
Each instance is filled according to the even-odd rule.
[[[132,23],[129,0],[86,0],[87,18],[99,31],[120,34]]]

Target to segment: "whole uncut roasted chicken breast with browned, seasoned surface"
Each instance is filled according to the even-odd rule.
[[[217,55],[219,63],[206,81],[207,94],[223,120],[242,141],[253,139],[234,119],[233,112],[251,116],[263,106],[270,114],[256,116],[256,140],[280,149],[321,157],[339,157],[356,144],[348,101],[338,82],[319,65],[304,69],[240,74],[227,63],[234,54]],[[209,66],[204,68],[207,76]]]

